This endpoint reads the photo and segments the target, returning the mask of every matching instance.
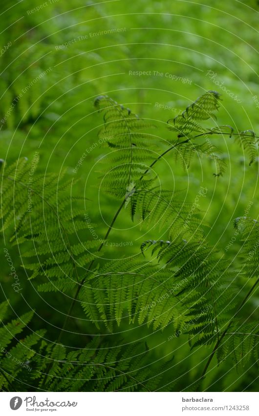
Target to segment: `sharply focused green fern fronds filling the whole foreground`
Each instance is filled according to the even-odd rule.
[[[253,316],[247,318],[244,328],[238,316],[257,282],[244,299],[234,295],[237,276],[258,277],[258,222],[247,217],[234,222],[243,244],[237,253],[236,268],[231,257],[223,257],[220,249],[205,238],[206,223],[196,206],[181,200],[181,192],[162,188],[157,176],[150,174],[162,156],[178,152],[185,163],[188,159],[188,167],[191,153],[211,156],[218,167],[215,175],[222,175],[224,163],[214,153],[216,147],[206,141],[195,142],[209,135],[229,135],[226,126],[205,129],[196,122],[215,116],[218,99],[218,93],[208,91],[177,116],[173,122],[177,139],[168,141],[167,148],[158,155],[153,150],[155,146],[159,148],[155,136],[140,131],[149,129],[149,122],[107,96],[95,99],[95,107],[104,113],[104,126],[98,137],[110,149],[103,161],[101,189],[121,199],[105,239],[86,239],[92,224],[86,221],[86,210],[80,204],[91,202],[71,197],[74,183],[65,180],[65,171],[59,175],[41,174],[35,171],[36,162],[25,158],[10,167],[3,166],[2,231],[9,232],[10,243],[19,248],[28,279],[39,282],[38,293],[54,292],[65,299],[68,295],[72,299],[69,316],[73,316],[75,302],[80,303],[86,328],[95,324],[97,333],[86,345],[68,350],[61,343],[68,320],[53,343],[44,340],[46,330],[38,328],[14,343],[32,313],[3,324],[3,353],[17,361],[3,358],[1,388],[20,390],[28,384],[39,391],[154,391],[161,388],[159,383],[165,373],[167,387],[162,390],[172,389],[178,377],[173,379],[169,372],[171,361],[156,367],[159,376],[154,376],[147,345],[109,343],[109,334],[116,333],[118,327],[152,326],[153,331],[165,331],[170,326],[170,341],[183,334],[191,349],[212,348],[211,357],[216,353],[218,364],[229,355],[237,366],[245,366],[258,357],[256,321]],[[232,130],[231,134],[235,134]],[[195,136],[197,131],[202,133]],[[243,132],[243,137],[249,134]],[[256,136],[250,136],[245,147],[254,152]],[[144,241],[129,258],[102,260],[99,252],[123,208],[127,208],[132,220],[140,221],[142,229],[154,227],[154,239]],[[167,240],[156,239],[161,230]],[[2,322],[6,307],[6,303],[1,304]],[[99,336],[103,334],[107,335],[105,341]],[[239,342],[242,335],[245,338]],[[11,342],[11,348],[5,350]],[[30,366],[30,374],[22,372],[21,363]],[[202,377],[205,373],[206,367]]]

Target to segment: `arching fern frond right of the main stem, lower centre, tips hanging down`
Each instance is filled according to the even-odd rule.
[[[111,330],[113,321],[120,325],[122,320],[137,320],[164,328],[181,313],[181,301],[170,293],[177,281],[173,270],[143,262],[139,255],[133,262],[109,262],[85,283],[79,297],[98,327],[103,322]]]

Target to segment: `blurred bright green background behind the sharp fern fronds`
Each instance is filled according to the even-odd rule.
[[[31,160],[39,151],[38,172],[67,168],[66,177],[77,180],[74,196],[89,199],[86,213],[96,223],[95,232],[100,238],[120,201],[99,193],[100,175],[96,171],[108,147],[98,144],[97,133],[103,120],[93,108],[96,96],[107,94],[154,122],[157,129],[152,134],[157,136],[154,140],[161,141],[161,149],[165,148],[163,140],[173,134],[167,128],[167,120],[207,90],[221,93],[222,103],[217,121],[204,125],[230,124],[259,133],[259,108],[253,98],[259,96],[257,1],[208,0],[201,4],[196,0],[115,0],[92,4],[79,0],[5,0],[3,9],[0,120],[7,117],[0,122],[0,158],[10,164],[19,157]],[[139,76],[143,72],[146,74]],[[259,163],[257,159],[249,166],[244,150],[227,136],[212,138],[211,142],[220,148],[227,164],[223,177],[213,176],[213,161],[194,158],[191,167],[184,170],[170,153],[156,165],[156,172],[165,189],[183,190],[190,203],[200,186],[207,187],[206,198],[199,200],[202,220],[211,225],[208,241],[223,254],[233,236],[233,219],[244,215],[250,201],[253,205],[249,216],[258,217]],[[86,149],[87,157],[74,173]],[[157,232],[154,228],[145,234],[137,223],[132,224],[129,215],[121,215],[110,242],[130,241],[132,245],[107,246],[103,255],[118,258],[137,253],[143,240],[166,236],[160,233],[157,238]],[[85,233],[91,238],[87,228]],[[55,325],[62,324],[61,313],[67,311],[67,304],[55,294],[48,296],[48,306],[44,297],[35,294],[32,283],[26,283],[17,247],[8,245],[8,235],[5,244],[24,281],[23,295],[37,311],[35,328],[47,325],[49,339],[55,340]],[[238,250],[239,243],[235,242],[228,253],[234,257]],[[10,291],[8,274],[8,264],[3,259],[1,297],[9,298],[14,315],[21,314],[28,305]],[[249,284],[246,290],[248,287]],[[247,308],[252,311],[255,306],[250,303]],[[86,328],[79,308],[75,315],[79,317],[78,332],[98,332],[91,325]],[[170,334],[170,325],[163,332],[152,333],[145,325],[129,328],[124,324],[118,334],[110,336],[114,344],[121,338],[125,343],[143,339],[152,348],[154,362],[174,355],[172,371],[177,373],[179,366],[186,371],[176,389],[184,390],[192,386],[208,351],[197,348],[190,354],[187,339],[167,342]],[[66,343],[83,341],[67,335]],[[203,389],[256,390],[253,367],[237,373],[230,360],[224,367],[215,366],[216,362]]]

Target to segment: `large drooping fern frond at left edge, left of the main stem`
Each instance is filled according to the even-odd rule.
[[[70,198],[66,197],[70,182],[59,183],[62,176],[35,176],[31,187],[33,209],[28,208],[30,169],[29,163],[22,159],[3,171],[2,230],[15,224],[11,242],[24,247],[22,257],[30,260],[23,264],[26,270],[31,270],[28,277],[48,279],[39,290],[71,290],[79,282],[79,270],[85,270],[95,258],[93,249],[100,243],[79,240],[78,233],[86,228],[84,210],[71,206]],[[71,241],[78,242],[71,244]]]

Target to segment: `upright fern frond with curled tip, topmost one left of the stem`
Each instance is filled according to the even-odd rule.
[[[104,160],[107,167],[102,189],[113,196],[127,196],[129,188],[135,186],[140,177],[146,185],[153,180],[151,177],[146,180],[145,171],[153,160],[154,138],[141,130],[154,126],[108,96],[97,97],[94,105],[104,112],[99,139],[114,149]]]

